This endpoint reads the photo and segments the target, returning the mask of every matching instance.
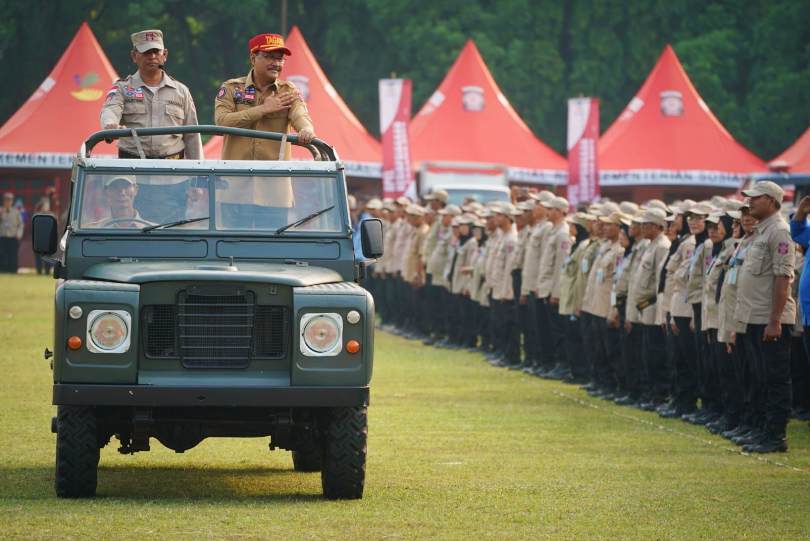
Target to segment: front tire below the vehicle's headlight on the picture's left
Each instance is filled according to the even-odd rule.
[[[56,495],[95,496],[100,454],[96,411],[89,406],[59,406],[56,428]]]

